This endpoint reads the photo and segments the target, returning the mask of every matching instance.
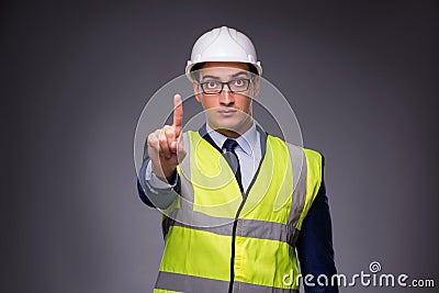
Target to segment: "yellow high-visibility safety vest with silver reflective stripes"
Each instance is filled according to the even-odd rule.
[[[267,135],[241,194],[226,160],[184,133],[180,196],[164,216],[165,251],[154,292],[299,292],[295,240],[322,182],[322,156]],[[291,275],[293,272],[293,275]]]

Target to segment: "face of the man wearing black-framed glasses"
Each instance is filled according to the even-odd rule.
[[[240,89],[248,79],[252,79],[248,89],[230,92],[227,84],[219,93],[207,94],[204,90],[214,88],[217,81],[232,81],[232,89]],[[237,137],[251,126],[251,98],[259,90],[259,79],[252,78],[248,65],[243,63],[206,63],[200,70],[200,78],[193,82],[195,99],[205,111],[209,125],[228,137]],[[243,89],[246,89],[244,86]],[[251,98],[250,98],[251,97]]]

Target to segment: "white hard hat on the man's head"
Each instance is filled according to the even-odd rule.
[[[251,64],[262,74],[260,61],[257,61],[255,46],[245,34],[222,26],[214,29],[196,40],[192,48],[191,59],[185,66],[185,75],[192,80],[192,67],[206,61],[235,61]]]

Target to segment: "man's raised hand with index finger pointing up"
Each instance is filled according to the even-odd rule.
[[[172,178],[179,160],[185,156],[181,135],[183,124],[183,104],[180,94],[173,95],[172,125],[165,125],[148,135],[148,155],[153,172],[168,181]]]

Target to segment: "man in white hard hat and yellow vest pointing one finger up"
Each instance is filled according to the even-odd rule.
[[[261,72],[246,35],[205,33],[187,66],[205,125],[182,132],[176,94],[173,123],[148,135],[137,187],[165,236],[154,292],[299,292],[297,258],[305,292],[338,292],[323,156],[256,125]]]

